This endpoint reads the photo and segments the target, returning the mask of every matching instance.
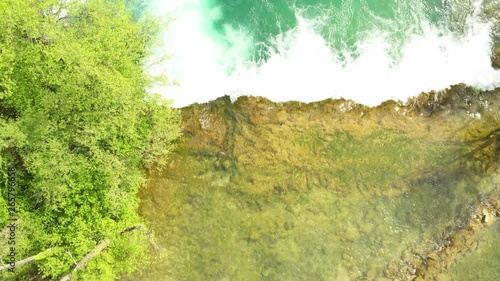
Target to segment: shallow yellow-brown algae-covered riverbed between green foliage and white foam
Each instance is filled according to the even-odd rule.
[[[498,189],[499,93],[183,108],[171,165],[140,193],[168,253],[140,280],[432,280],[476,247],[460,226],[486,226],[469,218]]]

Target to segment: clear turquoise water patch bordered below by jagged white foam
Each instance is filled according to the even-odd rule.
[[[400,50],[411,35],[424,33],[424,25],[446,21],[442,1],[244,1],[219,0],[221,17],[214,21],[218,33],[227,35],[227,27],[241,27],[255,44],[254,60],[265,60],[279,49],[274,38],[289,32],[300,20],[311,23],[343,60],[359,56],[357,45],[373,31],[387,36],[391,47]],[[274,41],[274,42],[273,42]],[[231,42],[228,42],[231,44]]]

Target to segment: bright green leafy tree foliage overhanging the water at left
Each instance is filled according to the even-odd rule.
[[[179,113],[144,90],[160,25],[134,20],[123,1],[0,0],[0,10],[0,176],[7,186],[16,169],[16,260],[62,249],[19,266],[58,279],[110,239],[75,279],[115,280],[144,261],[145,234],[122,234],[140,223],[143,170],[180,134]]]

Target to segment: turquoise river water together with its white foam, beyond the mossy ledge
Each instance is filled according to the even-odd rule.
[[[459,82],[500,84],[481,1],[130,3],[138,16],[172,19],[157,50],[170,59],[150,69],[171,82],[151,90],[176,106],[223,95],[378,105]]]

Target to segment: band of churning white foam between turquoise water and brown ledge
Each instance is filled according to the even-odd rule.
[[[229,39],[239,42],[237,48],[228,48],[207,27],[207,21],[219,15],[217,9],[208,9],[196,0],[169,5],[161,2],[156,11],[177,16],[164,35],[164,48],[175,57],[153,71],[165,73],[179,86],[154,90],[172,98],[176,107],[226,94],[303,102],[344,97],[378,105],[460,82],[483,89],[500,82],[500,72],[490,65],[490,27],[479,21],[462,38],[439,36],[439,30],[425,27],[423,35],[410,38],[400,62],[392,65],[382,32],[374,31],[372,37],[359,42],[359,57],[341,63],[325,40],[299,17],[295,29],[275,38],[277,51],[257,65],[245,63],[252,40],[244,30],[227,30]],[[229,75],[228,67],[236,70]]]

